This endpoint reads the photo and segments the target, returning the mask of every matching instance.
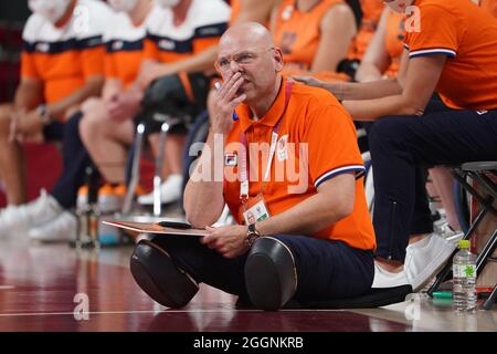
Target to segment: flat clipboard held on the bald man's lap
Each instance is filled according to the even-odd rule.
[[[133,222],[133,221],[102,221],[116,228],[127,229],[137,232],[160,233],[160,235],[181,235],[181,236],[207,236],[205,229],[192,229],[186,222]],[[170,226],[165,226],[170,225]],[[177,227],[172,227],[177,226]]]

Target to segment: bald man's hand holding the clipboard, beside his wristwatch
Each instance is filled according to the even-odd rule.
[[[215,249],[225,258],[235,258],[248,251],[245,242],[247,231],[245,226],[207,227],[205,230],[208,236],[202,237],[200,242]]]

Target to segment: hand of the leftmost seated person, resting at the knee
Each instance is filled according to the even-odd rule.
[[[43,123],[36,110],[25,112],[17,111],[11,115],[10,142],[22,143],[27,139],[36,140],[43,131]]]

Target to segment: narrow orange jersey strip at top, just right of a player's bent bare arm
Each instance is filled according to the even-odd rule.
[[[349,59],[362,59],[384,9],[383,3],[379,0],[360,0],[360,4],[362,10],[361,25],[353,41],[352,50],[349,52]]]

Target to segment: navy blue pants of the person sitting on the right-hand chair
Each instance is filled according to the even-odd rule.
[[[410,235],[433,231],[422,167],[497,159],[497,111],[447,108],[390,116],[369,133],[374,173],[377,256],[403,262]]]

